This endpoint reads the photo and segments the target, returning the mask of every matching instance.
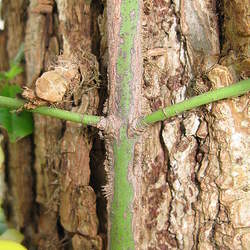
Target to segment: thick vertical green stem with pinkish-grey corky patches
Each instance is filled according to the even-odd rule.
[[[109,249],[134,249],[131,169],[135,139],[128,136],[138,115],[141,84],[140,1],[108,0],[109,115],[120,124],[113,142],[114,195],[110,201]]]

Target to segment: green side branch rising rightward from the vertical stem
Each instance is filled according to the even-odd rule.
[[[211,102],[215,102],[225,98],[236,97],[247,93],[248,91],[250,91],[250,79],[240,81],[228,87],[209,91],[207,93],[192,97],[183,102],[165,107],[161,110],[157,110],[149,115],[146,115],[140,121],[140,124],[149,125],[158,121],[163,121],[184,111],[194,109],[204,104],[209,104]]]

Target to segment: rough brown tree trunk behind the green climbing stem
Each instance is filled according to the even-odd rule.
[[[141,115],[249,77],[247,7],[247,0],[142,1]],[[112,59],[106,1],[4,0],[2,12],[0,70],[24,42],[25,74],[16,83],[33,87],[62,54],[81,73],[63,108],[97,115],[112,109],[104,104]],[[139,136],[135,249],[250,248],[248,103],[249,95],[221,101]],[[105,150],[98,131],[39,115],[34,121],[33,136],[6,140],[10,222],[29,249],[106,249]]]

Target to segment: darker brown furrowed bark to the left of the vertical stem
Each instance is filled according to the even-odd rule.
[[[13,59],[25,43],[26,78],[18,83],[32,88],[63,54],[81,71],[81,84],[64,108],[96,114],[101,3],[5,1],[3,10],[8,28],[1,34],[1,58]],[[8,63],[1,66],[7,68]],[[33,138],[8,143],[10,220],[24,231],[29,247],[102,249],[96,194],[90,186],[89,155],[96,131],[38,115],[34,122]]]

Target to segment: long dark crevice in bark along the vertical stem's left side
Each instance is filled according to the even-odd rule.
[[[91,30],[93,33],[92,38],[92,53],[96,56],[99,63],[100,71],[100,86],[98,89],[99,106],[97,110],[98,115],[103,115],[103,105],[107,99],[107,69],[104,65],[103,58],[100,51],[101,35],[98,27],[98,17],[103,14],[104,5],[100,0],[93,0],[91,2]],[[95,130],[96,132],[96,130]],[[105,160],[105,145],[100,136],[95,133],[93,139],[93,146],[90,151],[90,185],[96,193],[96,212],[99,220],[98,234],[103,238],[103,249],[107,246],[107,201],[102,192],[102,188],[106,183],[106,172],[104,170]]]

